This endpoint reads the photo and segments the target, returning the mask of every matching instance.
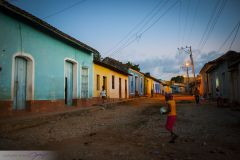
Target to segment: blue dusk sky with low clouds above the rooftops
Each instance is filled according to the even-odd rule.
[[[9,0],[59,30],[142,72],[184,75],[191,46],[196,73],[229,49],[240,51],[240,0]],[[225,42],[225,43],[224,43]]]

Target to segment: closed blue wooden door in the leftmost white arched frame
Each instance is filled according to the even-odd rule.
[[[24,58],[15,58],[14,72],[14,100],[13,109],[26,108],[27,61]]]

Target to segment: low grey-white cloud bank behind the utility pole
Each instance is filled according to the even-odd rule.
[[[197,75],[203,65],[211,60],[221,56],[222,53],[212,51],[209,53],[201,53],[198,50],[193,51],[193,59],[195,64],[195,74]],[[189,55],[176,54],[174,57],[155,57],[144,60],[135,61],[139,64],[142,72],[150,72],[150,74],[159,79],[169,80],[173,76],[182,75],[185,73],[181,69],[184,62],[189,61]],[[193,76],[191,69],[190,76]]]

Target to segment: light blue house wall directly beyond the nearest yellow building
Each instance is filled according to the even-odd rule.
[[[135,77],[138,77],[138,94],[140,96],[144,95],[144,76],[137,72],[137,71],[133,71],[131,69],[128,70],[128,73],[131,74],[132,76],[128,76],[128,84],[129,84],[129,96],[135,96]]]

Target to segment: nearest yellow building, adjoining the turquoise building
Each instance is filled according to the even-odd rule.
[[[102,87],[108,98],[128,98],[128,73],[103,62],[94,61],[93,97],[100,97]]]

